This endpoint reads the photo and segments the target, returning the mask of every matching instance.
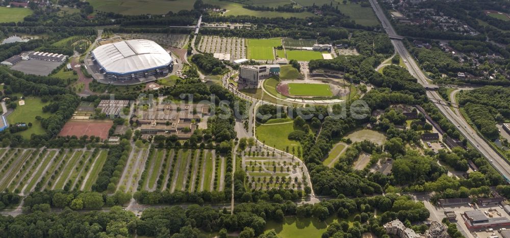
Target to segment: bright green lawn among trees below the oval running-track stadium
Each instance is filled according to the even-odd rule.
[[[264,144],[283,151],[286,151],[287,146],[289,146],[289,152],[292,152],[292,147],[296,147],[297,155],[297,147],[301,146],[300,143],[288,138],[289,134],[294,131],[294,123],[258,124],[256,130],[257,139]]]

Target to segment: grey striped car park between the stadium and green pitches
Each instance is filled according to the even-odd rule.
[[[198,44],[198,50],[206,53],[230,54],[232,60],[246,58],[245,39],[223,38],[218,36],[202,36]]]

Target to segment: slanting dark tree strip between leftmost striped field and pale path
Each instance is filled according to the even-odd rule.
[[[99,172],[95,184],[92,185],[92,190],[98,192],[115,191],[127,162],[127,157],[129,157],[129,151],[131,151],[131,146],[128,140],[122,140],[118,145],[110,147],[105,165]]]

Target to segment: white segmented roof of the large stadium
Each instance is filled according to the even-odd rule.
[[[101,45],[92,55],[107,72],[131,73],[168,65],[172,57],[154,41],[126,40]]]

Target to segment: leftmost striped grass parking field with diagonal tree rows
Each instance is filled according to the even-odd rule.
[[[0,148],[0,188],[19,194],[44,189],[90,191],[107,153],[105,149]]]

